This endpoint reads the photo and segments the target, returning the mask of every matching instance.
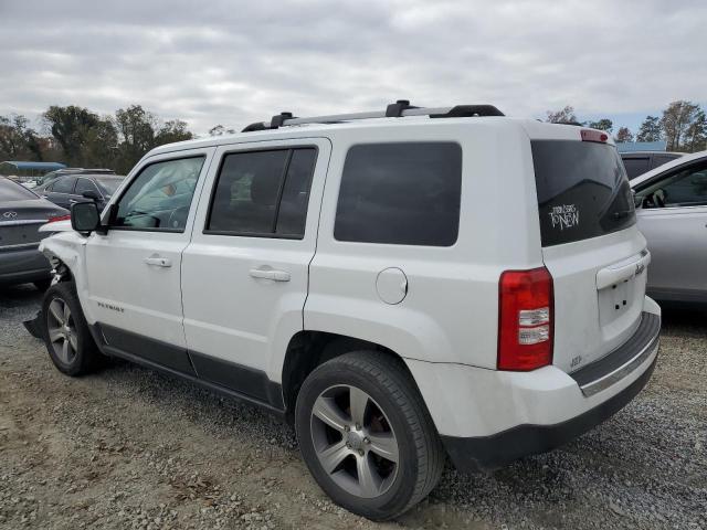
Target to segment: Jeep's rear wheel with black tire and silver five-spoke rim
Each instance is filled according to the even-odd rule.
[[[344,508],[398,517],[437,484],[444,451],[402,361],[344,354],[305,380],[295,410],[299,448],[315,480]]]

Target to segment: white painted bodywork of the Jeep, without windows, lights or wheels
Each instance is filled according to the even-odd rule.
[[[108,231],[86,239],[63,232],[44,240],[42,248],[71,268],[89,324],[107,324],[262,371],[273,382],[283,380],[294,335],[338,333],[403,358],[442,435],[485,436],[528,422],[550,424],[602,403],[647,370],[650,362],[592,398],[583,396],[568,375],[624,342],[642,311],[659,314],[644,297],[645,274],[631,276],[626,305],[615,315],[605,315],[609,301],[598,290],[602,269],[644,258],[645,240],[635,226],[541,246],[530,140],[580,141],[579,135],[579,127],[511,118],[404,118],[285,127],[162,146],[148,153],[123,186],[148,161],[207,155],[183,233]],[[462,146],[457,242],[422,247],[337,241],[334,222],[348,148],[423,140]],[[319,157],[303,240],[203,233],[224,152],[307,142],[317,145]],[[116,192],[112,203],[119,197]],[[144,259],[154,253],[172,266],[146,265]],[[526,373],[499,372],[499,275],[544,265],[555,282],[553,364]],[[251,269],[263,267],[284,271],[291,280],[250,276]],[[398,304],[381,299],[377,287],[379,275],[391,268],[407,277],[407,294]],[[387,288],[394,292],[394,286]]]

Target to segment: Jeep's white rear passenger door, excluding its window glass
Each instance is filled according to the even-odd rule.
[[[184,333],[190,351],[267,372],[279,382],[284,353],[292,337],[302,331],[307,297],[308,266],[317,241],[317,210],[331,151],[323,138],[275,142],[240,142],[218,148],[217,158],[230,152],[268,147],[310,147],[318,160],[309,192],[305,236],[302,240],[205,234],[210,194],[197,209],[196,229],[182,264]],[[213,165],[205,186],[218,174]],[[255,278],[252,271],[281,271],[287,282]],[[257,303],[253,303],[257,300]]]

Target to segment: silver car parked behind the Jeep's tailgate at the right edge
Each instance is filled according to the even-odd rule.
[[[631,188],[652,257],[647,294],[664,301],[707,303],[707,151],[636,177]]]

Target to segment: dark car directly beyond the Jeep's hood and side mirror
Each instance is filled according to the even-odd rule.
[[[122,174],[62,174],[34,191],[62,208],[92,200],[103,210],[123,179]]]

